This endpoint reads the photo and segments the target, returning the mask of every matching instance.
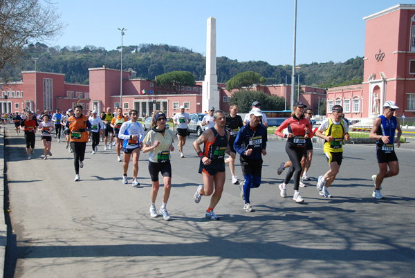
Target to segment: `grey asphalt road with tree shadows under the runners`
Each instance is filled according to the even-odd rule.
[[[400,174],[385,180],[385,200],[371,197],[378,165],[371,145],[345,145],[333,198],[321,197],[317,176],[328,169],[315,149],[312,177],[301,188],[304,204],[279,196],[277,165],[288,159],[284,141],[269,141],[262,184],[251,191],[256,212],[243,208],[230,183],[215,208],[221,221],[205,219],[209,197],[193,201],[197,173],[191,136],[185,158],[172,153],[171,221],[149,217],[151,180],[147,154],[140,156],[142,187],[122,184],[114,149],[87,147],[81,181],[73,156],[53,140],[53,157],[42,160],[42,143],[27,160],[23,135],[6,129],[5,157],[10,219],[6,277],[414,277],[415,142],[396,153]],[[101,143],[102,144],[102,143]],[[237,176],[243,181],[239,164]],[[129,171],[131,177],[131,169]],[[131,178],[130,178],[131,183]],[[163,187],[156,201],[161,205]]]

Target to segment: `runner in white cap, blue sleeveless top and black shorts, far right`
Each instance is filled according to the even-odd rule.
[[[374,126],[372,127],[369,138],[376,139],[376,158],[378,158],[379,173],[372,176],[375,183],[375,190],[372,196],[377,199],[382,199],[380,194],[382,189],[382,181],[384,178],[390,178],[399,174],[398,157],[395,154],[394,140],[396,140],[396,147],[400,147],[400,136],[402,130],[398,118],[394,116],[395,110],[399,109],[396,103],[389,100],[383,104],[383,115],[376,118]],[[396,139],[395,132],[396,130]],[[389,167],[389,171],[388,168]]]

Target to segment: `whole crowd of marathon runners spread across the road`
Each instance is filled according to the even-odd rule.
[[[194,194],[194,201],[199,203],[202,196],[211,196],[210,204],[205,212],[205,217],[219,220],[214,213],[214,207],[219,203],[225,184],[225,164],[230,166],[232,183],[239,185],[241,198],[244,201],[243,210],[255,212],[250,203],[251,189],[261,185],[261,171],[263,156],[267,151],[267,124],[266,117],[261,112],[259,102],[252,103],[252,110],[242,120],[238,113],[238,106],[231,105],[230,113],[225,114],[221,110],[211,107],[208,114],[203,118],[202,125],[205,130],[193,142],[194,150],[199,156],[199,173],[201,173],[203,184],[199,185]],[[183,147],[187,138],[187,124],[190,116],[185,113],[185,107],[180,107],[180,112],[174,115],[173,121],[177,126],[178,151],[184,158]],[[376,139],[376,158],[378,160],[379,172],[371,178],[374,180],[374,192],[372,196],[376,199],[384,198],[380,193],[384,178],[396,176],[399,172],[398,158],[394,147],[400,147],[399,120],[394,116],[398,109],[395,102],[385,102],[383,114],[374,121],[369,133],[369,138]],[[160,187],[159,175],[163,177],[164,192],[163,202],[158,212],[165,220],[170,219],[167,212],[167,201],[172,188],[172,165],[170,164],[171,152],[174,151],[174,133],[166,128],[167,117],[163,111],[155,111],[151,116],[151,130],[145,136],[144,129],[138,122],[138,111],[130,110],[128,115],[122,115],[122,109],[116,109],[112,113],[108,108],[98,116],[97,111],[82,113],[82,106],[77,105],[66,113],[56,109],[55,113],[44,111],[42,115],[33,112],[24,114],[16,113],[12,118],[15,123],[17,136],[24,131],[26,140],[26,153],[28,159],[34,154],[35,133],[41,133],[41,141],[44,147],[44,160],[52,156],[52,136],[60,142],[61,133],[66,140],[66,149],[73,153],[75,169],[75,181],[80,181],[80,168],[84,167],[84,156],[86,143],[91,141],[92,152],[96,154],[100,142],[104,142],[104,150],[116,146],[117,160],[122,162],[122,183],[127,184],[127,172],[132,160],[132,182],[131,185],[138,187],[138,159],[140,152],[148,153],[148,171],[151,177],[151,194],[149,213],[152,218],[158,217],[156,210],[156,197]],[[304,187],[304,180],[309,180],[308,169],[311,167],[313,157],[313,143],[311,138],[317,136],[324,140],[324,155],[327,158],[329,170],[317,178],[317,190],[320,196],[331,198],[328,188],[333,184],[342,164],[342,145],[344,140],[349,140],[349,125],[342,118],[343,109],[340,105],[332,107],[330,118],[326,118],[313,132],[311,117],[313,110],[306,107],[302,102],[296,102],[290,118],[286,119],[276,130],[275,135],[287,138],[286,153],[290,160],[281,163],[277,174],[282,174],[288,168],[283,183],[279,185],[280,195],[287,196],[287,185],[293,178],[293,201],[303,203],[304,198],[299,194],[299,187]],[[396,135],[396,138],[395,138]],[[108,142],[108,137],[110,140]],[[114,139],[115,138],[115,139]],[[394,144],[396,140],[396,145]],[[109,143],[109,144],[108,144]],[[122,158],[121,158],[122,151]],[[228,158],[225,159],[226,154]],[[234,165],[237,154],[243,174],[243,183],[235,175]]]

